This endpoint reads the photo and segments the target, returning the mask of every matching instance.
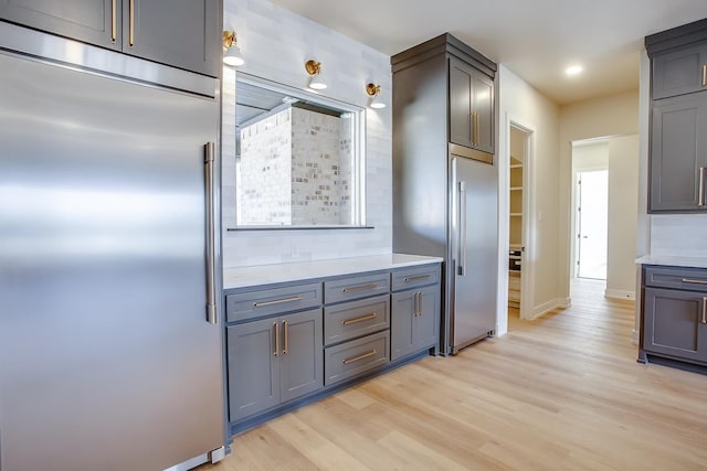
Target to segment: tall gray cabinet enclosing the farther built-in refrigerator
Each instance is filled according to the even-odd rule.
[[[496,64],[446,33],[391,66],[393,250],[444,258],[440,351],[453,354],[495,330]]]

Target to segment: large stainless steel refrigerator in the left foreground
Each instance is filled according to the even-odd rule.
[[[224,445],[219,81],[28,31],[0,23],[0,470],[192,468]]]

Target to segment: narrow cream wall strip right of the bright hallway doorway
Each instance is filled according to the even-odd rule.
[[[635,299],[639,206],[639,135],[609,140],[609,234],[606,291],[610,298]]]

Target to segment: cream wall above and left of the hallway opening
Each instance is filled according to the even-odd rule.
[[[559,251],[556,270],[560,296],[569,297],[572,235],[572,141],[639,132],[639,92],[626,92],[560,108],[559,138]],[[636,210],[634,208],[634,212]],[[635,232],[633,232],[635,234]],[[634,254],[635,255],[635,251]],[[632,256],[633,256],[632,255]]]

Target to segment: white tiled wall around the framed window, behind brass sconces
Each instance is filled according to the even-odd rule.
[[[234,30],[246,60],[240,72],[305,88],[305,62],[321,62],[323,95],[366,107],[366,84],[381,85],[389,106],[367,109],[367,225],[372,229],[226,232],[235,218],[235,99],[232,69],[224,72],[222,220],[224,268],[389,254],[392,250],[392,127],[390,57],[266,0],[225,0],[224,29]]]

